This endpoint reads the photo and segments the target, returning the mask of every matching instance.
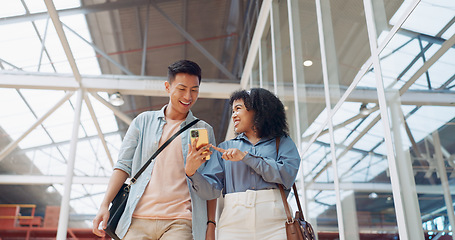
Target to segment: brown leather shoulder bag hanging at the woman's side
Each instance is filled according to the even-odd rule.
[[[280,145],[280,138],[276,139],[276,153],[278,155],[278,146]],[[302,207],[300,206],[299,193],[297,192],[297,187],[295,183],[292,185],[294,190],[294,197],[297,202],[298,211],[295,212],[295,217],[292,218],[291,212],[289,210],[289,204],[284,193],[284,188],[282,184],[278,184],[281,193],[281,199],[283,200],[284,210],[286,212],[286,237],[288,240],[314,240],[314,231],[313,227],[309,222],[305,220],[303,216]]]

